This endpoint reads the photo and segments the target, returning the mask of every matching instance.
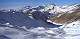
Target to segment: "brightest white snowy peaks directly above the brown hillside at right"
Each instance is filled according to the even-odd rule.
[[[48,11],[50,9],[50,13],[72,13],[74,12],[76,9],[79,8],[79,4],[75,4],[75,5],[64,5],[64,6],[54,6],[54,5],[49,5],[47,7],[45,7],[45,11]]]

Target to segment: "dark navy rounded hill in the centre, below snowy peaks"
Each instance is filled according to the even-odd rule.
[[[41,19],[41,20],[46,21],[46,20],[48,19],[49,14],[43,13],[43,12],[40,12],[40,11],[34,11],[34,12],[32,13],[32,16],[33,16],[35,19]]]

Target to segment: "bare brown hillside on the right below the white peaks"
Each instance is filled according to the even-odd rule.
[[[59,17],[52,17],[50,20],[60,24],[71,23],[73,21],[80,20],[80,8],[76,9],[72,13],[64,13]]]

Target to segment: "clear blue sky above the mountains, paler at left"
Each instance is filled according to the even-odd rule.
[[[80,4],[80,0],[0,0],[0,8],[16,9],[16,8],[21,8],[24,5],[38,6],[38,5],[53,4],[53,3],[55,3],[56,5],[67,5],[74,3]]]

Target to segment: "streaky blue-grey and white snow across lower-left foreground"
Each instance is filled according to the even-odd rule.
[[[0,35],[11,39],[63,39],[62,35],[64,34],[62,30],[57,28],[45,29],[44,27],[26,29],[25,31],[9,27],[0,27],[0,31]]]

